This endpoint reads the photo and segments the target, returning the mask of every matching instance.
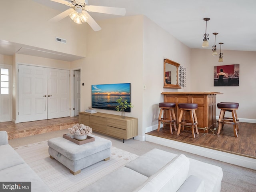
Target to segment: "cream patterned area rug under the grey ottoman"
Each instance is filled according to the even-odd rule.
[[[49,157],[47,141],[14,149],[53,192],[77,192],[138,157],[112,146],[110,160],[84,168],[74,176],[68,168]]]

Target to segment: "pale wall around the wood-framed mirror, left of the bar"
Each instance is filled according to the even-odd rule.
[[[190,48],[150,19],[143,22],[143,124],[141,133],[154,130],[158,126],[158,103],[164,101],[162,92],[190,91],[190,73],[186,74],[186,88],[170,89],[164,86],[164,58],[184,66],[190,71]]]

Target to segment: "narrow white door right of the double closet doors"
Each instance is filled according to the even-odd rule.
[[[80,112],[80,71],[74,71],[74,116]]]

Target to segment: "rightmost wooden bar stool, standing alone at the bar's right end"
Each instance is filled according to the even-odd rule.
[[[220,134],[220,130],[223,128],[224,124],[230,124],[234,127],[234,136],[238,137],[238,117],[236,114],[236,110],[239,107],[239,103],[231,103],[231,102],[221,102],[217,104],[218,109],[220,109],[220,116],[219,116],[219,126],[218,126],[218,135]],[[231,112],[232,118],[225,117],[225,112]]]

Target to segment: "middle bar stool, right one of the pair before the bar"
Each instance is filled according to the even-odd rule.
[[[185,125],[191,125],[192,136],[193,138],[196,138],[194,126],[196,127],[196,134],[199,134],[198,128],[197,128],[198,122],[197,122],[196,111],[195,111],[198,105],[194,103],[179,103],[178,106],[180,108],[180,117],[179,117],[179,128],[178,128],[177,135],[180,135],[181,125],[182,125],[182,131],[184,130]],[[190,114],[190,119],[186,120],[185,116],[186,116],[186,113],[188,112]]]

